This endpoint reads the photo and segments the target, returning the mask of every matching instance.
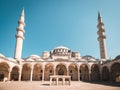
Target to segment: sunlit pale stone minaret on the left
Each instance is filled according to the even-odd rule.
[[[22,46],[23,46],[24,33],[25,33],[24,27],[25,27],[25,22],[24,22],[24,8],[23,8],[17,27],[16,48],[14,55],[15,59],[21,59],[22,56]]]

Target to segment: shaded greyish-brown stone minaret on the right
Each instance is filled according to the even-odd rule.
[[[106,52],[106,35],[105,35],[105,29],[104,29],[104,23],[102,21],[102,17],[100,15],[100,12],[98,12],[98,41],[100,45],[100,58],[103,60],[107,59],[107,52]]]

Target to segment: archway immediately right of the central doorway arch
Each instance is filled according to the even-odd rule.
[[[71,80],[77,81],[78,80],[78,66],[75,63],[71,63],[68,67],[69,75],[71,76]]]

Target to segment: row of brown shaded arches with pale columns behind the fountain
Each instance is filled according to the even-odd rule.
[[[70,64],[46,64],[41,66],[35,64],[31,67],[29,64],[24,64],[22,67],[14,66],[10,69],[7,63],[0,63],[0,81],[17,80],[17,81],[47,81],[51,75],[66,75],[71,76],[72,81],[117,81],[120,82],[120,63],[115,63],[111,66],[111,71],[107,66],[100,69],[97,64],[93,64],[89,68],[86,64],[77,66]],[[7,78],[7,79],[6,79]]]

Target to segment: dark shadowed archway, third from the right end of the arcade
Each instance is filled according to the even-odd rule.
[[[98,81],[100,80],[100,69],[97,64],[91,66],[91,80]]]

